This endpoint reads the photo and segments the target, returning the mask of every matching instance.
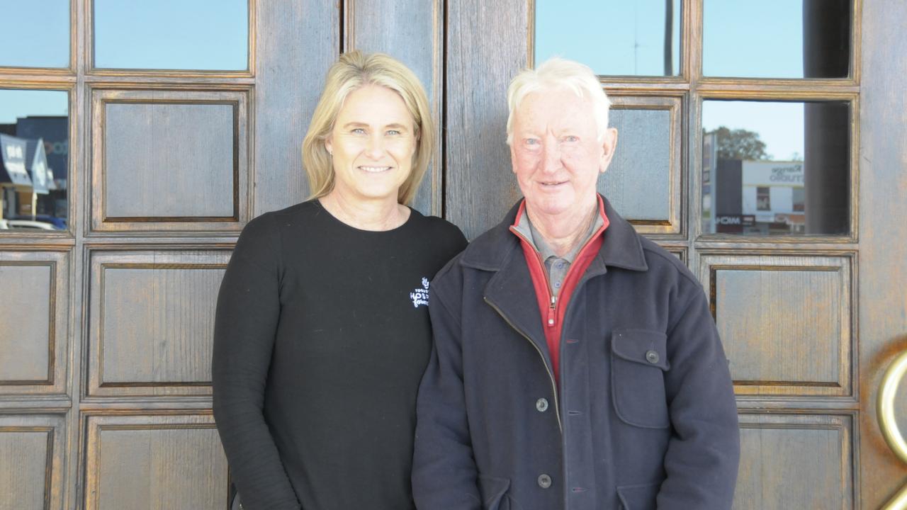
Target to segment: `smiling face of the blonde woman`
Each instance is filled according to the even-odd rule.
[[[347,201],[397,201],[413,166],[416,133],[403,99],[379,85],[346,96],[325,146],[335,185]]]

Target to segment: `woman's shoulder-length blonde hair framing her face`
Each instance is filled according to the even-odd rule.
[[[432,110],[422,83],[409,68],[389,55],[355,51],[340,55],[327,71],[325,90],[318,99],[306,139],[302,142],[302,162],[308,174],[310,198],[323,197],[334,189],[334,167],[325,140],[334,129],[346,96],[366,85],[380,85],[399,94],[413,116],[416,136],[413,167],[400,186],[397,201],[409,203],[419,188],[435,143]]]

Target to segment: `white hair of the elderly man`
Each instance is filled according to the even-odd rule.
[[[592,103],[592,115],[598,126],[599,142],[604,141],[608,130],[608,109],[611,105],[608,94],[601,88],[599,77],[588,65],[552,57],[535,69],[524,69],[511,80],[507,88],[507,144],[513,142],[513,113],[527,95],[541,90],[565,88]]]

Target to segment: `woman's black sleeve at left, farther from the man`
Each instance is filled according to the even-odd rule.
[[[220,284],[214,321],[214,419],[230,476],[249,510],[299,509],[262,414],[280,312],[278,235],[269,215],[243,230]]]

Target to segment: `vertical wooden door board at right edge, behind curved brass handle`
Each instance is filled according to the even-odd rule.
[[[875,414],[883,372],[907,349],[907,3],[861,4],[860,479],[863,508],[878,508],[907,484],[907,466],[884,443]],[[907,407],[896,412],[907,431]]]

